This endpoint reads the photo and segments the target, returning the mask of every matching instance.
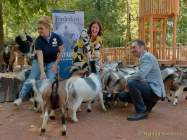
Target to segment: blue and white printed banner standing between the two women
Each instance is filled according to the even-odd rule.
[[[60,62],[60,76],[68,78],[67,67],[72,65],[72,52],[75,41],[84,28],[84,12],[81,11],[53,11],[53,31],[62,37],[64,54]]]

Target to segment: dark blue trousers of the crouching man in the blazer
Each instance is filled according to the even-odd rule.
[[[120,100],[134,104],[136,113],[150,112],[160,99],[145,81],[129,79],[127,81],[129,92],[119,93]]]

